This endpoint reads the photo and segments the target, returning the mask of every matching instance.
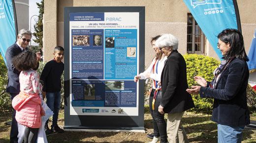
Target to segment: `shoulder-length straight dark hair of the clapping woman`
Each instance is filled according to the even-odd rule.
[[[225,29],[218,35],[218,38],[230,46],[230,50],[223,55],[223,59],[229,61],[236,57],[244,61],[249,61],[245,52],[244,39],[241,32],[236,29]]]

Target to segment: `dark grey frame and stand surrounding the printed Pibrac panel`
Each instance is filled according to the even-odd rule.
[[[144,71],[145,7],[65,7],[64,8],[64,129],[144,130],[144,82],[139,82],[138,116],[70,115],[69,76],[69,13],[79,12],[139,12],[139,72]]]

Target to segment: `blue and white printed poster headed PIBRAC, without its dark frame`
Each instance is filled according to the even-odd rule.
[[[138,116],[139,13],[69,18],[70,115]]]

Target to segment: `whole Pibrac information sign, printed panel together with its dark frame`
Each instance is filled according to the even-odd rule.
[[[65,7],[64,48],[64,129],[144,131],[145,7]]]

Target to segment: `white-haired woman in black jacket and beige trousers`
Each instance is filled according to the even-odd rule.
[[[177,38],[171,34],[163,34],[156,41],[156,47],[167,56],[161,74],[162,99],[158,110],[161,114],[168,114],[166,128],[168,142],[189,143],[181,119],[186,110],[194,107],[194,103],[192,96],[186,92],[188,88],[186,62],[177,51],[178,43]]]

